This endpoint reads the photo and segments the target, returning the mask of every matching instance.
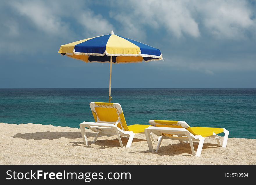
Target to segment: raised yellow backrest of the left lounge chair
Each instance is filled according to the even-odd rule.
[[[97,123],[117,123],[117,127],[129,131],[119,103],[91,102],[90,108]]]

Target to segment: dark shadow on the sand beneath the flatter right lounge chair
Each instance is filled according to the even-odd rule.
[[[198,143],[195,142],[195,143],[193,143],[193,145],[194,145],[195,152],[196,152]],[[204,149],[209,149],[209,148],[219,148],[219,146],[218,146],[218,144],[205,143],[203,145],[202,151]],[[160,156],[162,156],[162,155],[175,156],[175,155],[181,155],[181,154],[183,154],[182,156],[186,156],[186,157],[192,156],[192,152],[191,152],[191,148],[190,148],[189,144],[181,145],[180,143],[177,143],[177,144],[170,144],[168,146],[161,146],[157,153],[155,152],[155,149],[156,149],[156,147],[154,148],[153,154],[160,155]],[[148,152],[150,152],[150,151],[146,150],[146,151],[141,151],[141,152],[129,152],[129,153],[148,153]],[[187,155],[184,153],[187,153]]]

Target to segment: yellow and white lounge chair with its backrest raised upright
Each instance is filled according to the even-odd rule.
[[[97,132],[93,143],[97,140],[99,135],[117,135],[121,148],[123,143],[121,136],[129,137],[126,144],[126,148],[131,146],[131,142],[135,133],[144,133],[145,128],[150,125],[129,125],[125,122],[125,116],[122,107],[119,103],[103,103],[103,102],[91,102],[90,107],[93,113],[95,122],[80,123],[81,134],[83,137],[83,143],[88,145],[85,127]],[[152,134],[150,137],[154,141]]]

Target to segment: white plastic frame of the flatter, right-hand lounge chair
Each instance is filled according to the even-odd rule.
[[[229,131],[226,130],[225,128],[223,128],[223,130],[224,130],[225,136],[224,136],[222,147],[225,148],[227,146],[227,139],[228,139]],[[150,140],[150,135],[149,135],[151,132],[159,136],[156,152],[159,150],[159,147],[160,147],[163,139],[173,139],[173,140],[179,140],[180,144],[184,144],[184,141],[186,143],[189,142],[190,148],[192,151],[192,155],[196,156],[196,157],[200,157],[200,155],[201,155],[205,137],[202,137],[200,135],[195,136],[195,135],[191,134],[191,132],[189,132],[185,128],[173,128],[173,127],[152,127],[152,126],[150,126],[145,129],[147,145],[148,145],[150,152],[153,152],[153,146],[152,146],[152,142]],[[170,136],[170,135],[163,136],[163,133],[164,134],[172,134],[172,135],[177,134],[177,136]],[[182,137],[182,136],[185,136],[185,137]],[[221,142],[220,142],[217,134],[213,133],[212,136],[208,136],[208,137],[216,138],[218,146],[221,147]],[[199,141],[196,154],[195,154],[195,149],[194,149],[192,141]]]

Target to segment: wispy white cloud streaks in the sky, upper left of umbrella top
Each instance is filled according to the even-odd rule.
[[[102,15],[95,14],[89,8],[84,8],[83,3],[85,2],[17,1],[10,5],[21,15],[29,18],[39,30],[50,35],[72,37],[74,31],[70,27],[70,21],[66,21],[66,19],[73,19],[84,28],[86,34],[80,33],[81,35],[96,36],[111,33],[113,25]]]

